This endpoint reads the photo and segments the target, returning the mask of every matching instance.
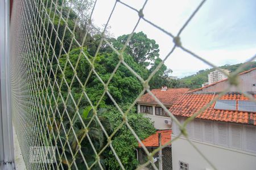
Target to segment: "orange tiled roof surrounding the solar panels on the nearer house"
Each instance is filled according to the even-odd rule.
[[[217,95],[213,94],[184,94],[176,100],[175,104],[170,107],[170,112],[175,116],[191,117],[197,111],[210,103]],[[256,98],[256,95],[254,95]],[[220,100],[249,100],[247,97],[240,94],[227,94]],[[215,103],[199,114],[196,118],[202,118],[214,121],[236,122],[241,124],[256,125],[256,113],[248,113],[241,111],[225,111],[214,109]]]

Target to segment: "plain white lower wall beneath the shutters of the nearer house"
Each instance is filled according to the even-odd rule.
[[[255,154],[230,150],[221,146],[216,147],[203,142],[193,141],[193,143],[207,156],[217,169],[256,169]],[[188,163],[189,170],[213,169],[195,148],[183,138],[177,139],[172,143],[172,169],[179,170],[179,161]]]

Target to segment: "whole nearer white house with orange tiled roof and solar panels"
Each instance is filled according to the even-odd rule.
[[[256,68],[239,75],[240,88],[256,98]],[[181,124],[204,109],[229,86],[228,80],[210,84],[180,96],[169,111]],[[189,140],[217,169],[256,169],[256,103],[235,87],[200,112],[187,125]],[[180,134],[172,122],[172,138]],[[173,169],[213,169],[181,135],[172,142]]]

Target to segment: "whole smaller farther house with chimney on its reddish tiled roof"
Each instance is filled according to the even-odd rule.
[[[188,92],[189,88],[167,88],[163,86],[159,89],[151,90],[152,94],[166,106],[170,108],[180,96]],[[163,108],[160,107],[154,97],[150,94],[144,94],[138,101],[138,113],[143,113],[144,116],[151,118],[154,121],[156,129],[164,130],[171,128],[171,118]]]

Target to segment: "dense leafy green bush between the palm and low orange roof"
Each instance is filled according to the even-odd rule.
[[[121,113],[114,106],[109,106],[108,112],[105,112],[104,116],[108,117],[114,130],[123,121]],[[131,128],[141,140],[155,133],[155,128],[150,118],[144,117],[143,114],[135,113],[135,109],[127,115],[127,119]],[[137,167],[138,160],[135,150],[138,147],[138,141],[126,125],[123,125],[114,135],[112,145],[125,169],[135,169]],[[107,152],[106,166],[108,169],[120,169],[113,151],[108,150]]]

